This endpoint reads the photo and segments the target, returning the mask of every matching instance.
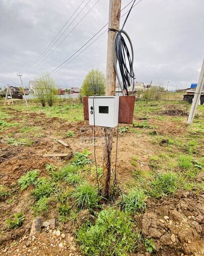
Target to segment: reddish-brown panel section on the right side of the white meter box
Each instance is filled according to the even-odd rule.
[[[132,124],[135,96],[120,96],[119,98],[119,123]]]

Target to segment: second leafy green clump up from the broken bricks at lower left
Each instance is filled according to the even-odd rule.
[[[55,191],[54,183],[43,177],[37,180],[36,188],[32,190],[31,194],[38,201],[42,197],[49,197]]]

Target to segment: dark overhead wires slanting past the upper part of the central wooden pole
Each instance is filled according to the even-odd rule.
[[[130,5],[134,0],[132,0],[129,4],[127,4],[125,7],[123,7],[123,9],[121,11],[123,11],[128,5]],[[131,8],[135,7],[136,5],[138,5],[140,2],[142,2],[142,0],[138,1],[137,3],[135,3]],[[125,12],[122,16],[124,17],[125,14],[129,13],[130,10],[128,10],[127,12]],[[126,22],[126,21],[125,21]],[[103,34],[105,34],[106,30],[100,35],[98,36],[92,43],[90,43],[85,49],[83,49],[83,51],[81,51],[77,56],[74,57],[75,54],[77,54],[84,46],[86,46],[95,36],[97,36],[101,30],[103,30],[106,26],[108,25],[108,23],[106,23],[106,25],[104,25],[102,28],[100,28],[97,33],[92,36],[85,44],[83,44],[75,53],[73,53],[71,55],[71,57],[69,57],[67,60],[65,60],[60,66],[56,67],[55,69],[53,69],[52,71],[50,71],[50,73],[48,73],[47,75],[51,75],[51,74],[55,74],[58,71],[60,71],[62,68],[64,68],[68,63],[70,63],[72,60],[74,60],[75,58],[77,58],[83,51],[85,51],[92,43],[94,43],[95,41],[97,41],[97,39],[102,36]],[[70,60],[72,57],[74,57],[72,60]],[[70,61],[69,61],[70,60]],[[69,62],[68,62],[69,61]]]

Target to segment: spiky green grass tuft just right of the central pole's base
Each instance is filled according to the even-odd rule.
[[[125,212],[142,212],[146,210],[147,196],[142,189],[130,191],[123,198],[123,209]]]

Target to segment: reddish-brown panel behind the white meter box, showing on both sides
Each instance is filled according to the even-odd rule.
[[[132,124],[135,96],[120,96],[119,98],[119,123]],[[84,120],[89,120],[88,97],[83,98]]]

